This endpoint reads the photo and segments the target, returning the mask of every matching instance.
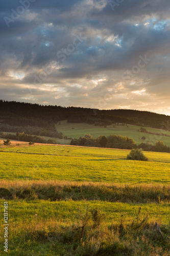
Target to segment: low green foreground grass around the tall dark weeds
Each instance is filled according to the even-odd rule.
[[[1,211],[3,211],[1,200]],[[125,223],[132,223],[137,217],[139,205],[125,203],[109,203],[99,201],[89,201],[89,208],[102,209],[105,220],[101,222],[101,227],[92,227],[93,223],[88,223],[88,230],[84,230],[84,237],[79,242],[79,226],[82,225],[82,216],[87,208],[86,201],[25,201],[17,200],[9,202],[9,255],[137,255],[141,252],[138,243],[123,242],[125,237],[133,238],[134,230],[128,226],[128,234],[119,238],[118,223],[122,219]],[[160,216],[160,212],[161,215]],[[155,220],[168,225],[169,205],[145,204],[142,205],[141,219],[149,213],[149,222],[154,226]],[[124,217],[121,217],[124,216]],[[107,225],[106,225],[107,223]],[[151,224],[150,224],[151,225]],[[2,226],[2,225],[1,225]],[[126,225],[125,225],[126,226]],[[148,225],[148,229],[149,229]],[[117,230],[116,230],[117,229]],[[76,233],[77,231],[77,233]],[[139,232],[140,233],[140,232]],[[164,236],[167,237],[168,229],[164,227]],[[90,238],[90,236],[92,236]],[[151,230],[150,230],[151,236]],[[86,240],[85,240],[86,238]],[[145,238],[145,240],[144,240]],[[87,243],[87,239],[89,239]],[[159,237],[155,233],[154,239]],[[154,240],[153,239],[153,240]],[[1,234],[1,241],[3,240]],[[104,242],[104,243],[103,243]],[[133,240],[131,242],[134,242]],[[156,241],[152,241],[156,244]],[[81,245],[82,243],[82,245]],[[147,243],[147,233],[140,241],[143,252]],[[98,246],[96,246],[98,244]],[[107,247],[107,244],[109,246]],[[159,241],[159,246],[163,243]],[[101,247],[101,249],[100,249]],[[83,249],[82,249],[83,248]],[[1,246],[3,251],[3,248]],[[101,250],[101,254],[98,252]],[[148,246],[149,253],[161,252],[160,249]],[[102,254],[102,253],[105,254]],[[110,254],[113,253],[114,254]],[[90,254],[91,253],[91,254]],[[100,253],[100,252],[99,252]],[[1,254],[1,255],[5,255]],[[161,255],[161,254],[155,254]],[[168,254],[164,254],[168,255]]]

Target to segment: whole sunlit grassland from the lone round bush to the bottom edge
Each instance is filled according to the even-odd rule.
[[[170,157],[74,146],[0,145],[9,255],[170,255]],[[141,208],[140,208],[141,207]],[[157,222],[163,239],[155,231]],[[4,241],[4,221],[0,222]],[[0,255],[6,255],[3,243]]]

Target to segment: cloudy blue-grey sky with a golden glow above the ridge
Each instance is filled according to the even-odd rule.
[[[0,98],[170,115],[169,0],[0,3]]]

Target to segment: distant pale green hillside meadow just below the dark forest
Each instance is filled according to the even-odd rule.
[[[65,120],[61,121],[60,125],[59,123],[56,124],[56,129],[58,132],[62,132],[64,136],[76,139],[78,139],[80,136],[83,137],[86,133],[91,134],[93,138],[97,138],[100,135],[109,136],[110,134],[115,134],[128,136],[130,138],[133,138],[136,144],[140,144],[141,142],[143,142],[143,140],[141,139],[142,136],[145,136],[145,142],[155,144],[157,140],[162,140],[167,146],[170,146],[170,137],[137,132],[137,130],[140,129],[140,126],[137,125],[116,125],[115,127],[113,127],[113,125],[108,125],[106,128],[104,128],[102,126],[94,126],[93,124],[87,123],[67,123],[67,121]],[[150,127],[146,127],[146,129],[147,131],[152,133],[163,133],[170,135],[169,131],[166,132]]]

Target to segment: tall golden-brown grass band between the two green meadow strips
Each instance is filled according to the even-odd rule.
[[[170,185],[104,182],[0,181],[4,199],[100,200],[108,202],[170,203]],[[4,190],[3,190],[4,189]]]

